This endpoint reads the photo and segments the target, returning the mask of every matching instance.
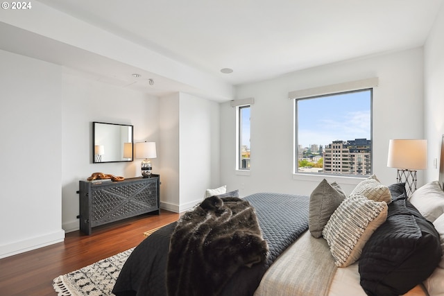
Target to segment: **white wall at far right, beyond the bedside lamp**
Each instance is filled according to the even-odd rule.
[[[429,166],[426,180],[438,180],[441,137],[444,134],[444,6],[424,46],[425,60],[425,135],[428,141]]]

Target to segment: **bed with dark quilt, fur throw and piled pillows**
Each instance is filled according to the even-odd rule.
[[[310,196],[212,196],[142,241],[113,293],[444,295],[443,175],[410,197],[375,175],[347,196],[327,180]]]

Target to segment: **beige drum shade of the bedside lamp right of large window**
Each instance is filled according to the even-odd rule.
[[[427,168],[427,140],[390,140],[387,166],[425,170]]]

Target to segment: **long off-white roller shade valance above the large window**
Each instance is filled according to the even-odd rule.
[[[372,87],[377,87],[378,82],[379,79],[375,77],[363,80],[338,83],[336,85],[325,85],[323,87],[300,89],[300,90],[295,90],[293,92],[289,92],[289,99],[310,98],[312,96],[323,96],[339,92],[351,92],[357,89],[368,89]]]

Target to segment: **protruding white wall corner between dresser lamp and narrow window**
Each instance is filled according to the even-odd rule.
[[[162,207],[185,211],[219,186],[219,104],[189,94],[160,99]]]

